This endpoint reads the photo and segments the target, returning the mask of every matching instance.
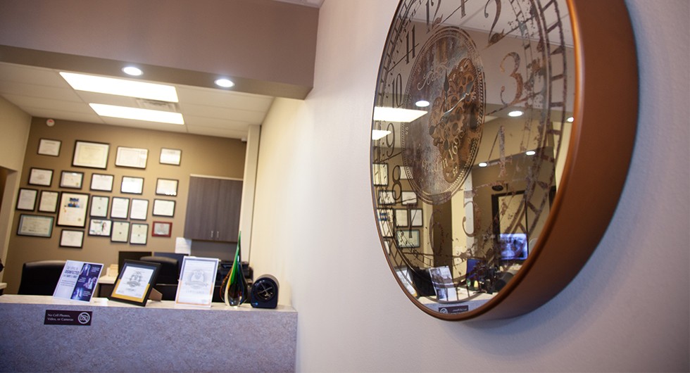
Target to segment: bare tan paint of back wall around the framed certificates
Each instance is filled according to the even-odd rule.
[[[58,157],[44,156],[37,153],[40,139],[54,139],[62,141],[60,155]],[[75,141],[95,141],[110,144],[108,166],[106,170],[73,167]],[[149,158],[146,169],[130,167],[116,167],[115,156],[118,146],[149,149]],[[161,147],[177,148],[182,150],[182,160],[179,166],[163,165],[158,162]],[[44,118],[34,118],[31,123],[31,132],[27,143],[26,157],[23,164],[24,177],[20,179],[20,187],[41,190],[68,191],[86,193],[98,196],[121,196],[127,198],[144,198],[149,200],[147,220],[149,224],[149,237],[146,246],[112,243],[108,237],[89,236],[88,223],[83,230],[84,244],[82,248],[61,248],[59,239],[63,227],[54,225],[51,238],[37,238],[32,236],[18,236],[16,234],[21,213],[32,213],[15,210],[11,239],[9,242],[6,260],[4,282],[8,283],[7,292],[15,293],[18,289],[23,263],[32,260],[84,260],[106,265],[118,262],[118,251],[164,251],[172,252],[175,249],[175,237],[181,237],[184,233],[184,216],[187,211],[187,190],[189,175],[211,175],[219,177],[233,177],[242,179],[244,172],[244,157],[246,144],[237,139],[224,139],[219,137],[206,137],[172,132],[158,132],[147,129],[132,129],[108,125],[94,125],[82,122],[67,122],[56,120],[54,127],[46,126]],[[29,185],[28,175],[31,167],[47,168],[54,170],[51,187],[37,187]],[[60,175],[63,170],[84,172],[82,189],[60,188]],[[114,175],[113,191],[90,191],[91,176],[93,173]],[[144,177],[144,192],[138,194],[120,193],[120,183],[123,176]],[[177,196],[156,196],[156,179],[179,180]],[[154,198],[173,199],[175,203],[174,217],[153,217]],[[15,198],[16,199],[16,198]],[[15,208],[16,201],[12,201],[11,208]],[[54,216],[57,222],[57,214],[37,213],[36,215]],[[108,217],[110,213],[108,212]],[[132,222],[144,222],[142,220],[129,220]],[[172,222],[172,234],[167,237],[151,237],[153,221]],[[67,229],[75,229],[67,227]]]

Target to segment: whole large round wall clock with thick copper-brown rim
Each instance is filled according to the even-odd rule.
[[[636,132],[622,0],[403,0],[373,110],[372,200],[403,293],[444,320],[538,308],[617,206]]]

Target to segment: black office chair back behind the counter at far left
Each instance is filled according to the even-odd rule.
[[[52,296],[65,263],[65,260],[24,263],[17,293],[25,296]]]

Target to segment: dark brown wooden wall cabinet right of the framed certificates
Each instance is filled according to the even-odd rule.
[[[237,242],[242,180],[189,177],[184,238]]]

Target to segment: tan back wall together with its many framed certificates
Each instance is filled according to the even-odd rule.
[[[239,139],[33,118],[12,206],[7,292],[31,260],[107,265],[118,251],[173,252],[189,175],[242,179],[245,153]]]

